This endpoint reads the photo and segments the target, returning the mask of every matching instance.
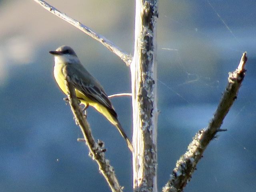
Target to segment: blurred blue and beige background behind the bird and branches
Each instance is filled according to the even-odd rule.
[[[133,53],[134,1],[49,0]],[[256,191],[256,1],[160,0],[158,40],[158,189],[204,128],[228,72],[247,51],[246,77],[218,138],[185,192]],[[0,191],[110,191],[56,85],[48,53],[66,44],[108,94],[130,92],[130,71],[100,43],[33,0],[0,1]],[[132,136],[131,98],[112,98]],[[114,126],[93,109],[88,121],[124,191],[132,191],[131,155]]]

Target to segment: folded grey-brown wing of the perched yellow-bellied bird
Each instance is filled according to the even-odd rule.
[[[117,117],[106,92],[94,76],[92,76],[82,65],[74,66],[73,64],[68,64],[66,68],[68,76],[77,90],[80,90],[90,100],[98,102],[106,107],[114,117]]]

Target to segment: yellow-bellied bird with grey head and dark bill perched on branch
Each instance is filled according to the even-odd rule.
[[[49,53],[54,56],[54,78],[62,92],[66,95],[68,93],[65,75],[63,73],[63,69],[65,68],[80,103],[84,104],[85,108],[88,106],[94,107],[105,116],[110,123],[116,126],[132,152],[132,143],[118,121],[116,111],[108,99],[104,88],[100,82],[84,68],[74,50],[70,46],[64,45],[58,47],[55,51],[49,51]]]

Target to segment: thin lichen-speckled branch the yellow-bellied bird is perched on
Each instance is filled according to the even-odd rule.
[[[106,151],[103,148],[103,142],[98,141],[98,143],[95,142],[92,132],[90,130],[90,126],[86,119],[84,118],[80,107],[78,105],[78,99],[76,97],[76,93],[74,90],[74,87],[70,83],[70,78],[67,75],[66,68],[64,68],[64,75],[66,80],[66,87],[68,90],[68,100],[70,104],[70,108],[74,114],[76,124],[80,127],[83,135],[84,140],[86,141],[86,144],[90,151],[90,156],[93,160],[95,160],[99,166],[99,170],[108,182],[108,185],[110,186],[112,192],[122,192],[122,188],[116,178],[114,168],[110,165],[109,160],[105,158],[104,152]]]

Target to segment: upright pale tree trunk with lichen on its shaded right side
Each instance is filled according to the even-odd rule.
[[[134,56],[130,65],[133,108],[134,191],[156,185],[156,20],[158,0],[136,0]]]

